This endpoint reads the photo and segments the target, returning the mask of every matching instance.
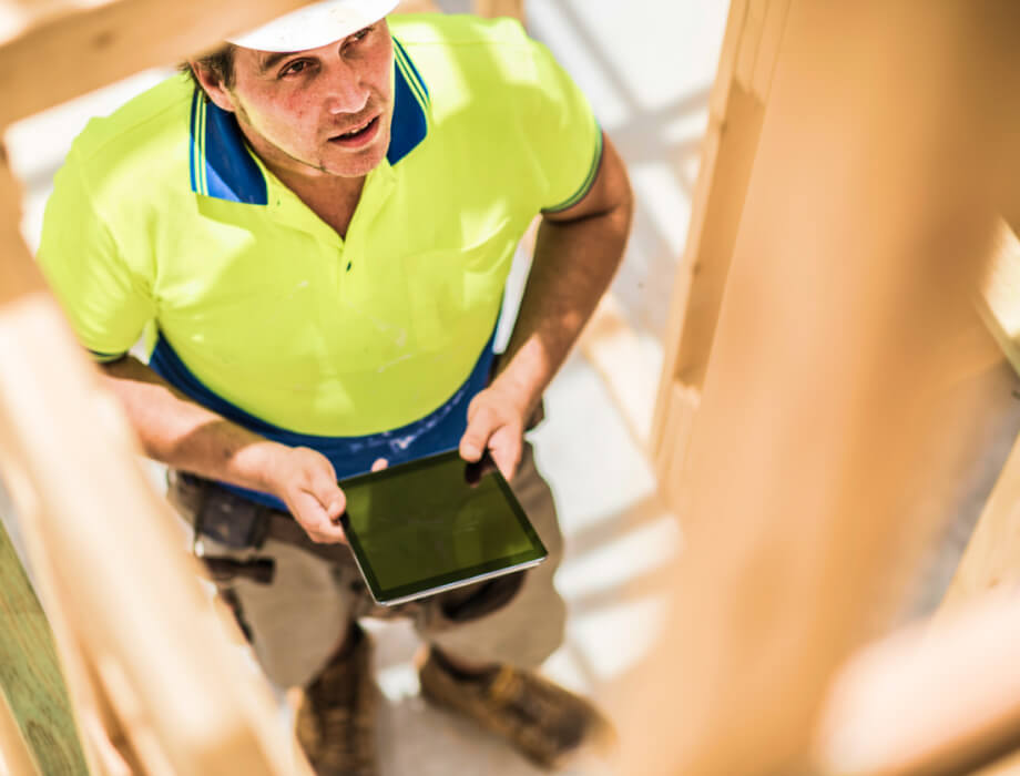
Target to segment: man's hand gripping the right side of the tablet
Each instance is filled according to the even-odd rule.
[[[468,405],[468,429],[460,439],[460,457],[475,463],[486,449],[507,481],[521,462],[529,402],[497,378]]]

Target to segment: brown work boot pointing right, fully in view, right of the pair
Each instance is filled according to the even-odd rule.
[[[429,651],[419,675],[426,700],[470,717],[543,768],[615,742],[612,723],[594,705],[530,671],[502,665],[466,675]]]

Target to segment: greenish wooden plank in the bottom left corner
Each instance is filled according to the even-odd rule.
[[[43,774],[85,774],[53,636],[0,524],[0,688]]]

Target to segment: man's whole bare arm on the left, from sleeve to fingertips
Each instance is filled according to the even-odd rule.
[[[333,521],[344,511],[344,493],[324,456],[230,422],[130,356],[102,369],[146,456],[175,469],[273,493],[314,540],[343,541],[344,532]]]

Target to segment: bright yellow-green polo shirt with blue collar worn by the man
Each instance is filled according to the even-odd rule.
[[[39,262],[100,360],[154,325],[166,379],[289,441],[404,428],[477,377],[518,241],[588,192],[601,132],[516,22],[389,23],[391,142],[346,239],[184,75],[90,122]]]

